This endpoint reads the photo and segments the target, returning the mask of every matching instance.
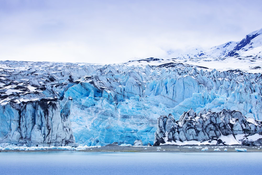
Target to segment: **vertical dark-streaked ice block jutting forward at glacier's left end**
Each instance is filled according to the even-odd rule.
[[[72,100],[68,97],[61,110],[57,98],[1,105],[0,113],[4,117],[0,118],[0,143],[74,146],[70,122]]]

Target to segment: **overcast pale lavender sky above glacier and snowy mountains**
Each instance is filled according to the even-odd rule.
[[[0,0],[0,60],[119,63],[240,41],[262,1]]]

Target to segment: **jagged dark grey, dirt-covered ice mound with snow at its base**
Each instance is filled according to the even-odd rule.
[[[261,121],[246,118],[239,111],[222,110],[215,113],[203,110],[196,114],[190,109],[178,121],[171,114],[158,118],[154,146],[192,140],[199,143],[208,141],[210,144],[213,141],[212,144],[261,145],[261,131]]]

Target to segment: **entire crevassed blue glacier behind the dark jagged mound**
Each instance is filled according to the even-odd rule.
[[[262,118],[262,75],[160,59],[123,64],[0,61],[0,142],[153,143],[160,115],[238,110]]]

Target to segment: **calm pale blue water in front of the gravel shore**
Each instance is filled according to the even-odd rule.
[[[262,153],[0,152],[0,174],[261,174]]]

